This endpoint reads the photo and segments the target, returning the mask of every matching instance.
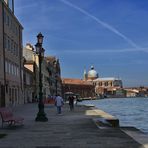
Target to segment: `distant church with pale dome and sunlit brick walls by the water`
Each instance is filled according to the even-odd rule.
[[[84,71],[83,79],[92,82],[95,85],[95,93],[101,97],[122,97],[122,80],[115,77],[99,77],[97,71],[91,66],[91,69]]]

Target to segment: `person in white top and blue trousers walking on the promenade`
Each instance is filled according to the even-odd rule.
[[[55,98],[55,105],[57,107],[58,114],[61,114],[62,113],[61,108],[64,105],[64,102],[63,98],[59,94]]]

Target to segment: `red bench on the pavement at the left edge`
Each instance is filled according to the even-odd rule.
[[[5,122],[8,123],[9,126],[12,126],[15,124],[23,124],[24,118],[14,117],[12,110],[10,108],[0,108],[0,115],[2,119],[2,128]]]

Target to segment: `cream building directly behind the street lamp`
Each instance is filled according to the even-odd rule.
[[[27,68],[28,70],[33,72],[33,80],[31,84],[34,88],[32,89],[32,99],[35,97],[39,97],[39,58],[38,55],[34,51],[34,47],[30,44],[27,43],[26,47],[23,48],[23,56],[25,58],[25,63],[24,67]],[[43,98],[47,98],[48,95],[51,94],[50,92],[50,84],[49,84],[49,73],[47,70],[48,63],[44,59],[42,59],[42,67],[41,67],[41,72],[42,72],[42,92],[43,92]],[[25,96],[26,98],[27,96]]]

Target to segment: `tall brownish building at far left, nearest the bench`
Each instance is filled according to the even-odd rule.
[[[14,15],[14,1],[0,1],[0,106],[23,103],[23,27]]]

